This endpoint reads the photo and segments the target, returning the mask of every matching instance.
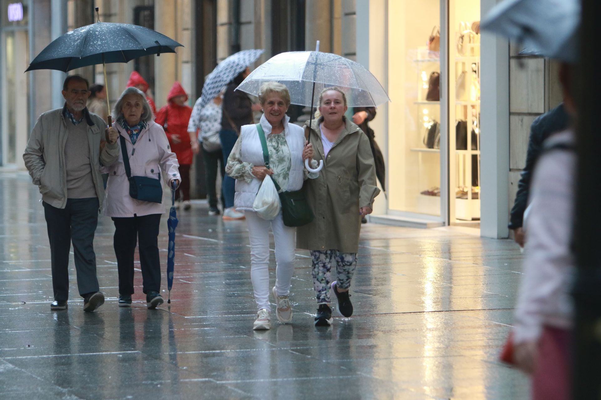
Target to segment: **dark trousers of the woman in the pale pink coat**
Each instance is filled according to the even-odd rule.
[[[139,242],[142,291],[160,290],[160,214],[112,218],[115,223],[113,246],[119,271],[119,294],[133,294],[133,254]]]

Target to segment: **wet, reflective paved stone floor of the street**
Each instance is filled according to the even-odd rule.
[[[171,305],[147,310],[136,272],[135,303],[118,308],[114,228],[101,217],[105,305],[82,311],[72,261],[69,309],[51,312],[39,199],[28,175],[0,173],[2,399],[528,398],[528,381],[497,360],[520,279],[509,240],[364,225],[351,318],[313,326],[310,259],[299,251],[293,323],[253,332],[246,224],[203,204],[178,214]],[[162,231],[166,263],[165,219]]]

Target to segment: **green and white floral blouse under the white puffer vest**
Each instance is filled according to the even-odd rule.
[[[250,183],[254,178],[252,175],[251,163],[242,161],[242,136],[238,137],[236,144],[227,159],[225,172],[234,179],[244,179]],[[278,134],[268,134],[266,137],[267,150],[269,151],[269,163],[274,181],[278,182],[282,191],[288,190],[288,181],[290,180],[290,169],[292,168],[292,160],[290,157],[290,149],[284,132]],[[317,161],[311,160],[311,167],[317,167]],[[304,179],[315,179],[319,176],[319,172],[308,172],[305,170]]]

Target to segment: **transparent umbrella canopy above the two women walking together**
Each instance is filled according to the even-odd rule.
[[[337,86],[347,95],[348,106],[374,107],[390,101],[380,82],[357,62],[322,52],[287,52],[273,56],[246,77],[238,90],[257,95],[265,82],[282,83],[292,104],[317,104],[324,88]],[[315,83],[315,87],[314,84]]]

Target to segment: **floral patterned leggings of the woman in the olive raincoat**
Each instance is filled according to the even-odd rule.
[[[317,303],[330,302],[330,270],[332,258],[336,262],[336,286],[341,289],[350,287],[357,266],[357,253],[343,253],[336,249],[311,250],[313,258],[313,287],[317,295]]]

